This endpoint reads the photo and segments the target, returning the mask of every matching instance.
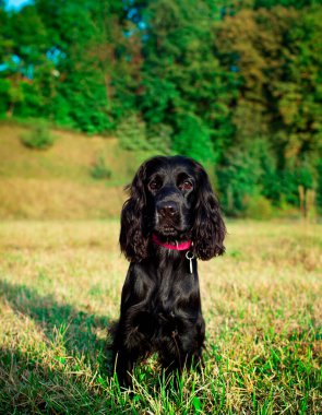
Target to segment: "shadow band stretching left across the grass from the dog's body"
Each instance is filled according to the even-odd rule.
[[[62,343],[69,354],[84,355],[90,361],[109,355],[108,317],[76,310],[69,304],[59,304],[50,295],[41,296],[25,285],[3,281],[0,281],[0,296],[15,312],[32,318],[50,343]],[[104,367],[107,368],[107,361]]]

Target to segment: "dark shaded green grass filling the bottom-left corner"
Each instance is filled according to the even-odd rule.
[[[93,379],[71,363],[48,361],[33,351],[0,348],[1,414],[117,414],[120,403],[131,405],[107,378]]]

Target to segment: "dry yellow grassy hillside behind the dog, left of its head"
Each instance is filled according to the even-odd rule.
[[[104,218],[118,216],[123,186],[143,155],[122,151],[115,138],[53,131],[45,151],[20,140],[26,128],[0,124],[0,218]],[[144,155],[145,157],[146,155]],[[97,180],[91,168],[103,158],[111,177]]]

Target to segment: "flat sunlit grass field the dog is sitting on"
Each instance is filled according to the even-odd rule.
[[[0,224],[1,413],[321,413],[321,225],[228,223],[226,256],[200,263],[202,372],[176,390],[152,357],[132,394],[107,347],[128,268],[118,229]]]

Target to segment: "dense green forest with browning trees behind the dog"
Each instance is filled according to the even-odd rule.
[[[27,145],[46,123],[194,157],[230,216],[321,214],[321,103],[319,0],[0,0],[0,118]]]

